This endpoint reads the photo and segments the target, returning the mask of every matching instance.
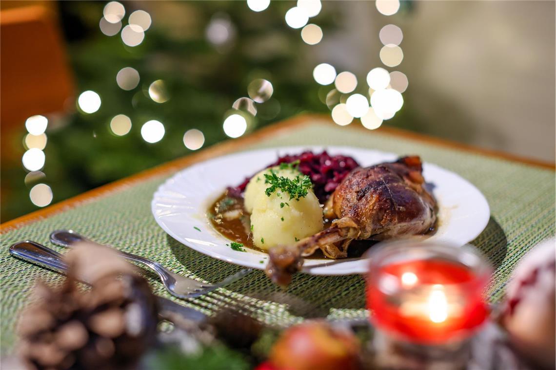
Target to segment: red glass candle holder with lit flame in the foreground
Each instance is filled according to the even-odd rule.
[[[491,269],[474,247],[406,240],[369,254],[367,304],[374,326],[416,344],[469,338],[488,317]]]

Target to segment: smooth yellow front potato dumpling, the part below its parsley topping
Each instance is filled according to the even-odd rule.
[[[299,200],[289,198],[289,194],[280,190],[270,196],[264,190],[257,194],[251,212],[256,247],[268,250],[276,245],[294,244],[322,230],[322,208],[312,190]]]

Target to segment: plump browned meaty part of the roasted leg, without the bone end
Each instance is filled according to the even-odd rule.
[[[336,217],[349,217],[357,239],[424,234],[436,220],[436,201],[423,187],[419,157],[355,169],[332,194]]]

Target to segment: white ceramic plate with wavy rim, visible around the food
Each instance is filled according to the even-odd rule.
[[[280,155],[297,154],[306,149],[316,153],[323,148],[299,146],[245,151],[188,167],[158,187],[151,203],[152,214],[162,229],[187,247],[222,261],[262,269],[267,255],[250,249],[235,251],[226,246],[230,240],[213,229],[206,217],[207,208],[227,186],[240,184]],[[326,150],[331,155],[353,156],[362,166],[398,158],[395,154],[376,150],[337,146],[329,146]],[[434,185],[434,196],[439,203],[438,230],[430,239],[456,245],[475,239],[490,217],[483,194],[467,180],[434,164],[423,164],[423,176]],[[261,260],[265,263],[260,263]],[[303,271],[314,275],[363,273],[366,262],[363,259],[307,259]]]

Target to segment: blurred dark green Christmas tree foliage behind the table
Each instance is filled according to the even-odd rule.
[[[123,44],[119,33],[112,37],[101,33],[98,22],[105,4],[61,4],[62,29],[77,85],[75,98],[93,90],[102,104],[95,113],[86,114],[72,109],[76,102],[69,101],[72,113],[50,118],[44,150],[46,180],[41,182],[52,187],[53,202],[192,153],[183,144],[189,129],[202,131],[203,148],[229,139],[222,123],[234,111],[235,100],[248,97],[247,86],[256,78],[269,80],[274,93],[267,102],[256,104],[255,116],[241,112],[247,117],[247,133],[303,111],[328,111],[319,100],[319,85],[312,80],[314,65],[302,59],[310,46],[302,42],[299,29],[284,22],[291,3],[271,2],[264,12],[255,13],[245,1],[126,2],[123,26],[135,7],[152,17],[137,47]],[[234,30],[225,47],[213,45],[205,36],[207,26],[217,18],[227,19]],[[325,30],[326,19],[324,14],[319,16]],[[75,24],[81,25],[80,32]],[[116,74],[124,67],[140,74],[139,85],[130,91],[116,84]],[[149,85],[159,79],[170,96],[165,103],[156,103],[148,95]],[[132,122],[124,136],[110,129],[110,120],[117,114],[127,115]],[[154,144],[141,137],[141,126],[151,119],[165,126],[164,137]],[[18,168],[2,169],[4,176],[13,172],[3,183],[11,194],[11,204],[2,207],[3,220],[36,209],[29,200],[34,183],[26,187],[21,163],[14,166]]]

